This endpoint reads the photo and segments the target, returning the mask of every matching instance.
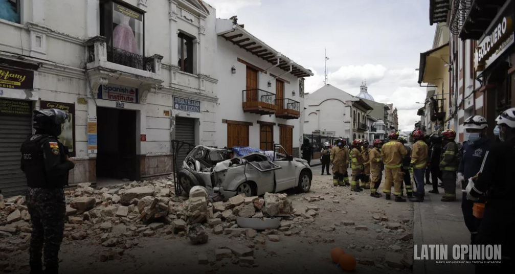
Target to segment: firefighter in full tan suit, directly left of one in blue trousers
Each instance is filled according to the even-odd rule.
[[[388,135],[390,141],[383,145],[381,149],[381,158],[385,163],[386,181],[383,192],[386,199],[391,198],[391,186],[394,185],[394,195],[396,202],[405,202],[406,199],[401,197],[402,194],[402,158],[408,153],[406,147],[399,142],[399,132],[392,131]]]

